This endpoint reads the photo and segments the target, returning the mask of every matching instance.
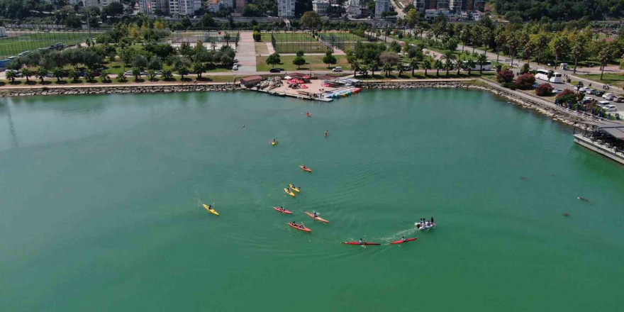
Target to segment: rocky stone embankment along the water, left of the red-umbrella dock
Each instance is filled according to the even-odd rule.
[[[29,95],[65,95],[65,94],[136,94],[136,93],[168,93],[191,91],[232,91],[238,90],[238,84],[155,84],[147,86],[132,85],[96,85],[79,87],[29,87],[3,88],[0,96]]]

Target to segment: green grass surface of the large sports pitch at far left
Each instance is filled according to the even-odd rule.
[[[11,34],[9,34],[11,35]],[[93,36],[97,34],[92,34]],[[24,33],[12,37],[0,38],[0,58],[16,56],[21,52],[48,48],[55,43],[75,45],[89,38],[87,32],[67,33]]]

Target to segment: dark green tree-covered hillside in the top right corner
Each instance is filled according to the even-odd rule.
[[[569,21],[579,18],[603,20],[624,16],[623,0],[491,0],[496,13],[511,21],[540,20]]]

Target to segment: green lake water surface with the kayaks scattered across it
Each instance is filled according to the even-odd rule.
[[[482,91],[1,99],[0,164],[0,311],[624,304],[624,167]]]

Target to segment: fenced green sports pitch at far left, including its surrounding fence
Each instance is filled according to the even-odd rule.
[[[91,32],[94,37],[98,33]],[[6,37],[0,38],[0,60],[17,56],[26,51],[77,45],[89,38],[87,30],[6,30]]]

